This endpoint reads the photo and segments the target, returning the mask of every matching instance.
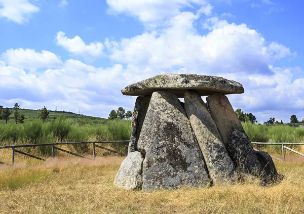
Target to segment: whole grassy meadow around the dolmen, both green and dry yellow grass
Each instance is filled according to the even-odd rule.
[[[304,128],[243,123],[255,142],[304,142]],[[30,118],[23,124],[0,123],[0,145],[71,141],[129,140],[130,120],[100,120],[58,116],[45,123]],[[92,155],[92,145],[60,146]],[[125,152],[127,144],[107,147]],[[260,148],[280,157],[281,147]],[[304,213],[304,161],[286,151],[286,161],[275,161],[284,180],[270,186],[247,181],[234,186],[208,186],[151,192],[113,186],[124,157],[96,149],[97,158],[74,158],[51,148],[24,148],[46,162],[15,154],[15,164],[0,165],[0,213]],[[304,152],[299,147],[298,151]],[[288,158],[289,157],[289,158]],[[0,150],[10,162],[11,150]]]

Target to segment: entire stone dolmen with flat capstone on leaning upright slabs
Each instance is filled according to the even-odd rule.
[[[254,151],[225,96],[244,93],[242,84],[171,73],[128,85],[122,93],[138,97],[128,156],[115,177],[116,186],[149,191],[231,185],[242,175],[264,183],[278,177],[270,155]],[[208,96],[206,104],[202,96]]]

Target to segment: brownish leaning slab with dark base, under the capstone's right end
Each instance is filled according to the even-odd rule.
[[[259,175],[262,171],[261,165],[227,97],[213,94],[206,100],[222,141],[237,169],[242,173]]]

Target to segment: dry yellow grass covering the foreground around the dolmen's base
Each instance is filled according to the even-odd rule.
[[[0,213],[304,213],[304,163],[275,162],[285,179],[153,192],[113,186],[123,157],[31,159],[0,166]]]

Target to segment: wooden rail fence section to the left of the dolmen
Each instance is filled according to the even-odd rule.
[[[11,165],[12,165],[15,162],[15,152],[17,152],[19,154],[26,155],[28,157],[32,157],[32,158],[36,158],[36,159],[39,159],[39,160],[46,161],[46,159],[44,159],[44,158],[37,157],[35,155],[29,154],[29,153],[26,153],[26,152],[23,152],[23,151],[16,150],[16,148],[52,146],[52,157],[53,158],[55,157],[55,150],[59,150],[59,151],[62,151],[62,152],[65,152],[65,153],[68,153],[68,154],[71,154],[71,155],[74,155],[74,156],[77,156],[77,157],[92,159],[90,157],[86,157],[84,155],[77,154],[75,152],[71,152],[71,151],[59,148],[56,145],[93,144],[93,159],[95,159],[95,157],[96,157],[96,147],[100,148],[100,149],[104,149],[104,150],[112,152],[112,153],[116,153],[116,154],[122,155],[122,156],[127,155],[127,151],[126,151],[125,154],[123,154],[123,153],[120,153],[118,151],[115,151],[115,150],[112,150],[112,149],[109,149],[109,148],[106,148],[106,147],[103,147],[103,146],[99,146],[99,145],[97,145],[97,143],[105,144],[105,143],[129,143],[129,142],[130,141],[84,141],[84,142],[28,144],[28,145],[8,145],[8,146],[0,146],[0,149],[12,149],[12,158],[11,158]],[[7,163],[0,161],[0,164],[7,164]]]

